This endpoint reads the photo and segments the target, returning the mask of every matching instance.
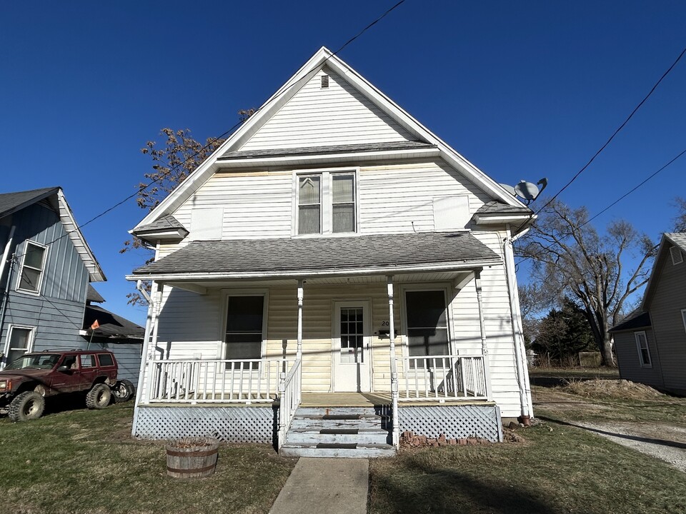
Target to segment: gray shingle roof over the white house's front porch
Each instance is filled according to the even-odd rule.
[[[471,233],[401,233],[352,237],[193,241],[134,275],[292,273],[432,264],[499,263]]]

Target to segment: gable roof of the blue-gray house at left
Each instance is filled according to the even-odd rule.
[[[48,200],[58,213],[60,221],[64,226],[66,236],[74,243],[77,253],[84,262],[88,270],[91,282],[106,281],[105,275],[100,268],[91,248],[71,212],[69,203],[66,202],[62,189],[58,187],[31,189],[30,191],[17,191],[16,193],[0,194],[0,218],[9,216],[12,213],[33,205],[41,200]]]

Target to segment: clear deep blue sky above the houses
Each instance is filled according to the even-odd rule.
[[[0,4],[0,191],[62,186],[84,223],[134,192],[159,129],[219,135],[320,46],[337,50],[395,1],[36,1]],[[339,56],[496,181],[559,190],[686,46],[683,1],[407,0]],[[591,213],[686,148],[686,57],[570,188]],[[686,156],[605,215],[657,238],[686,196]],[[118,251],[134,200],[84,228],[126,306]]]

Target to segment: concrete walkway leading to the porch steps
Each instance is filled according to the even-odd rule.
[[[301,457],[269,514],[366,514],[369,460]]]

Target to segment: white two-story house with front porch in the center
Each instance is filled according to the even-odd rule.
[[[133,434],[393,453],[531,394],[532,211],[322,48],[131,232],[156,250]]]

